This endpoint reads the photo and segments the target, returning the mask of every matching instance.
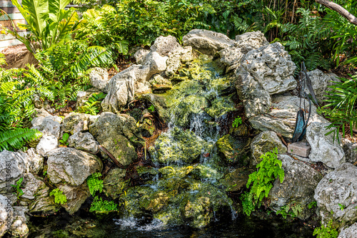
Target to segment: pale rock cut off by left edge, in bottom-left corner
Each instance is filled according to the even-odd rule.
[[[11,227],[13,219],[14,209],[11,207],[11,201],[4,195],[0,195],[0,237],[4,236]]]

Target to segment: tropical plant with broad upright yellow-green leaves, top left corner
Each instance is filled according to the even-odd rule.
[[[16,32],[14,21],[11,20],[11,29],[1,26],[1,33],[10,33],[19,41],[25,44],[31,53],[36,53],[37,44],[41,50],[54,46],[60,41],[67,41],[71,38],[71,31],[76,27],[79,16],[74,8],[64,10],[70,0],[11,0],[19,9],[27,24],[18,24],[20,29],[26,29],[31,34],[20,36]],[[5,11],[0,10],[2,14]],[[9,17],[10,19],[10,17]]]

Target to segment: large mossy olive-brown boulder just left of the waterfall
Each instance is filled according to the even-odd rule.
[[[134,145],[144,142],[136,127],[136,120],[126,114],[101,113],[90,126],[89,132],[124,166],[136,160]]]

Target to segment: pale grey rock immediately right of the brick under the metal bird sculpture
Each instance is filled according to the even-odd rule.
[[[338,140],[333,140],[333,133],[325,135],[330,131],[326,129],[328,125],[330,124],[311,123],[306,129],[306,140],[311,145],[311,153],[308,157],[313,162],[323,162],[328,167],[336,168],[346,161],[346,157]]]

